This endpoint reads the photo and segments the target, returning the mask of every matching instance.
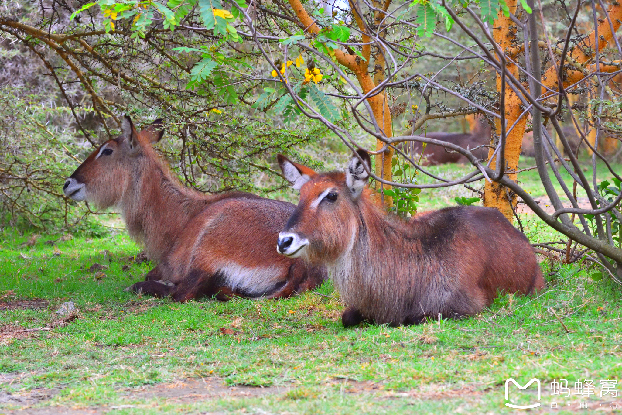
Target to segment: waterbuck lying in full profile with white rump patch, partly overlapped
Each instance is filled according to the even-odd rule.
[[[119,208],[132,238],[160,261],[128,290],[177,301],[226,300],[287,297],[321,284],[325,268],[274,251],[295,206],[243,192],[187,189],[152,148],[162,138],[161,122],[137,133],[126,116],[121,136],[88,156],[64,187],[73,200]]]

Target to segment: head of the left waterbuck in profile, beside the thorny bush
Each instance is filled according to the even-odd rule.
[[[93,151],[65,181],[65,195],[76,202],[86,200],[100,208],[116,205],[129,183],[134,166],[163,134],[161,119],[156,119],[138,133],[132,119],[125,116],[121,135]]]

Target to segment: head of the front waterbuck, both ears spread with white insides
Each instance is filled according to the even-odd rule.
[[[300,190],[300,202],[279,233],[277,251],[316,263],[336,261],[353,243],[358,209],[367,184],[371,161],[369,154],[357,151],[345,172],[317,174],[309,167],[289,161],[279,154],[279,166],[294,189]],[[365,166],[363,166],[363,163]]]

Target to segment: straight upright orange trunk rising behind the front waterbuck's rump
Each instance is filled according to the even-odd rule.
[[[516,0],[509,0],[508,7],[511,13],[516,11]],[[495,42],[499,44],[501,50],[510,49],[512,47],[513,40],[516,39],[516,26],[509,17],[503,15],[503,11],[499,11],[497,19],[494,21],[493,37]],[[508,63],[506,71],[512,73],[514,77],[518,78],[518,67],[513,63]],[[497,74],[497,92],[501,91],[501,76]],[[506,82],[505,90],[505,115],[506,115],[506,128],[509,129],[514,122],[521,115],[521,100],[514,93],[511,88],[508,87]],[[518,170],[518,157],[521,154],[522,136],[525,133],[525,124],[527,122],[527,116],[524,115],[519,119],[514,129],[506,137],[505,147],[505,159],[507,170]],[[497,119],[496,133],[501,134],[501,120]],[[494,144],[492,142],[491,144]],[[488,152],[488,159],[492,157],[494,150],[490,149]],[[496,168],[496,162],[493,160],[490,164],[491,169]],[[509,179],[516,181],[516,174],[508,174]],[[516,206],[516,195],[509,193],[509,189],[496,183],[486,181],[484,189],[484,206],[491,207],[499,210],[503,213],[504,217],[508,218],[510,222],[514,221],[514,215],[512,208]]]

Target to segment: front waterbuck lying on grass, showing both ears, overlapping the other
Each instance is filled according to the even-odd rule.
[[[358,156],[369,169],[369,155]],[[449,207],[409,220],[388,217],[364,189],[369,175],[359,157],[345,173],[323,174],[278,158],[300,189],[300,203],[277,250],[328,267],[348,305],[346,327],[474,315],[499,292],[532,294],[544,286],[527,238],[498,210]]]

